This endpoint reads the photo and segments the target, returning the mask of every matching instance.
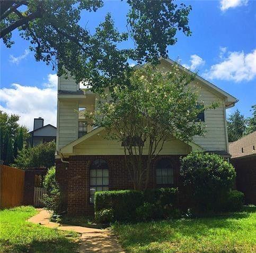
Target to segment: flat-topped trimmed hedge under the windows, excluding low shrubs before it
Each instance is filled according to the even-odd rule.
[[[135,190],[102,191],[95,193],[94,210],[95,213],[98,213],[104,209],[112,209],[114,220],[133,221],[137,219],[138,210],[145,206],[145,203],[155,204],[157,208],[164,209],[166,205],[175,206],[177,198],[178,190],[175,188],[153,189],[144,192]]]

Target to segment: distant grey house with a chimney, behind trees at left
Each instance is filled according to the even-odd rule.
[[[51,142],[52,140],[56,142],[56,127],[51,124],[44,126],[43,121],[41,117],[34,119],[33,131],[29,132],[29,143],[31,147],[41,143]]]

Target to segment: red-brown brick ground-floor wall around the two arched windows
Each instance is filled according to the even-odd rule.
[[[180,155],[158,156],[170,158],[174,167],[174,184],[164,186],[179,186]],[[146,158],[146,157],[145,157]],[[93,204],[89,203],[90,195],[90,165],[94,160],[107,161],[109,166],[109,190],[133,189],[129,172],[125,167],[123,155],[80,155],[70,156],[69,164],[56,160],[56,179],[64,196],[64,208],[69,214],[91,215]],[[151,165],[148,188],[156,188],[156,161]]]

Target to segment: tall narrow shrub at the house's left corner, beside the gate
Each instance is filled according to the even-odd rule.
[[[43,180],[43,186],[46,188],[46,194],[43,194],[42,203],[48,210],[53,211],[55,214],[59,214],[61,208],[61,193],[59,190],[59,184],[55,179],[55,167],[51,167]]]

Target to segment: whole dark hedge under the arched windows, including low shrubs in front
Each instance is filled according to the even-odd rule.
[[[170,218],[176,212],[178,190],[161,188],[146,191],[121,190],[95,193],[95,218],[136,221]],[[109,221],[112,221],[109,220]]]

